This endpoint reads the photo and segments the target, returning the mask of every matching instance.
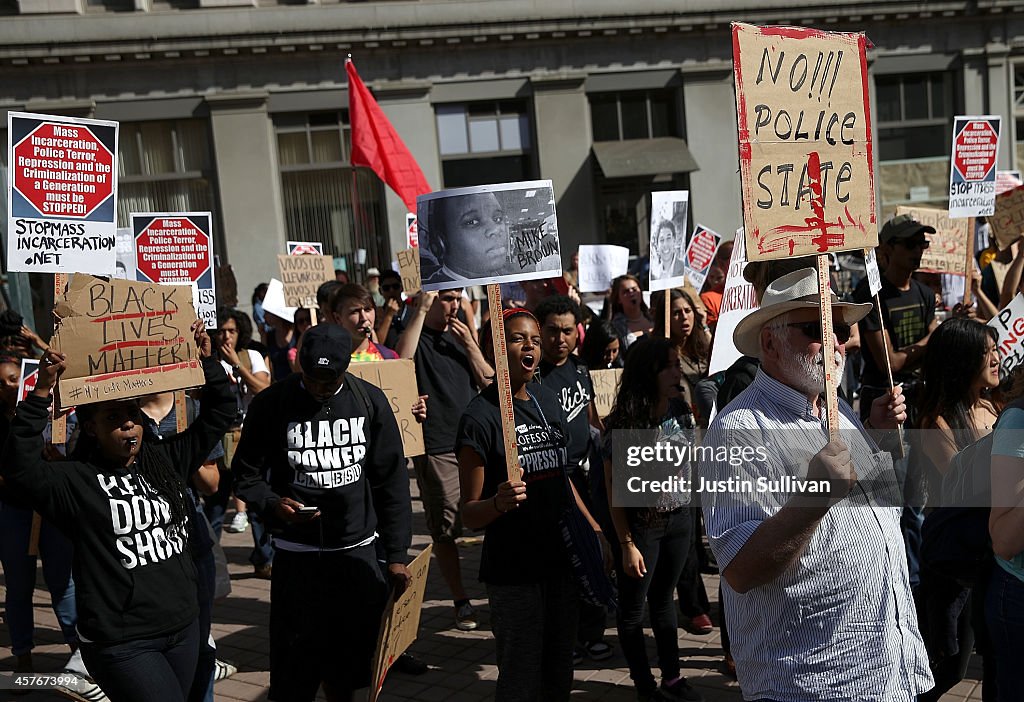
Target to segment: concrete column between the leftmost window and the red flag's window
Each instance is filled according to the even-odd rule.
[[[278,276],[285,222],[278,148],[265,91],[209,95],[210,128],[223,230],[215,237],[245,304],[257,283]]]

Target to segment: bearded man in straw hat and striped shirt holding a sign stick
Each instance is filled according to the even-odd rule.
[[[761,369],[702,447],[714,450],[702,454],[695,489],[706,492],[732,655],[745,700],[912,702],[933,682],[899,485],[876,443],[905,405],[897,389],[861,425],[840,401],[841,438],[829,442],[817,291],[813,269],[784,275],[737,325],[736,347]],[[869,309],[833,295],[838,378],[850,324]]]

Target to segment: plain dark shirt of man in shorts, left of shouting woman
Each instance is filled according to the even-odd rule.
[[[459,418],[476,396],[466,349],[451,333],[424,325],[414,359],[420,394],[430,396],[423,423],[427,454],[451,453]]]

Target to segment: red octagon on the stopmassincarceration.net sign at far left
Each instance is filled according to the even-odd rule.
[[[85,126],[45,122],[17,142],[14,190],[43,216],[84,219],[114,193],[114,155]]]

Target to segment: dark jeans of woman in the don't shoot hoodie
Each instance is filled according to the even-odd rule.
[[[184,702],[196,675],[199,621],[156,639],[82,643],[92,678],[117,702]]]

